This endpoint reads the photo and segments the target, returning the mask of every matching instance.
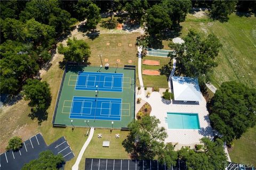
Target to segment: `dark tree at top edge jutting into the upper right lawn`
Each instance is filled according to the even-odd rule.
[[[213,1],[210,15],[213,19],[221,22],[228,21],[228,15],[235,11],[238,1]]]

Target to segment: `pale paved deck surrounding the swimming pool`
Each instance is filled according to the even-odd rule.
[[[148,89],[149,91],[149,89]],[[162,94],[162,93],[161,93]],[[151,116],[156,116],[161,123],[159,126],[163,126],[167,130],[168,137],[165,142],[172,142],[173,145],[177,144],[175,149],[179,149],[182,146],[194,147],[196,143],[200,142],[203,137],[212,138],[212,128],[209,121],[209,113],[206,109],[206,101],[202,96],[202,101],[199,105],[193,104],[175,104],[173,102],[166,102],[162,99],[159,92],[152,92],[150,97],[145,97],[144,95],[138,95],[141,99],[145,100],[151,105],[152,111]],[[138,104],[136,104],[138,105]],[[178,112],[178,113],[198,113],[200,130],[186,130],[186,129],[168,129],[167,123],[165,123],[164,118],[167,117],[167,112]]]

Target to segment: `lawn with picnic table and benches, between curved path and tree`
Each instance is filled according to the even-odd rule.
[[[102,134],[102,138],[98,138],[98,134]],[[120,138],[115,138],[115,134],[119,133]],[[129,154],[122,146],[122,142],[126,139],[129,131],[110,129],[95,129],[92,140],[86,148],[79,169],[84,169],[85,158],[109,158],[109,159],[130,159]],[[103,141],[110,141],[109,147],[102,147]]]

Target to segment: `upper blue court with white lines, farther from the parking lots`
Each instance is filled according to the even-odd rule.
[[[123,73],[79,72],[75,90],[123,91]]]

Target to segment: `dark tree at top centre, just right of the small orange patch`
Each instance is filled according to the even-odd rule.
[[[132,21],[140,22],[142,15],[145,13],[145,10],[148,8],[147,0],[133,0],[128,1],[125,4],[125,11],[129,13],[129,16]]]

